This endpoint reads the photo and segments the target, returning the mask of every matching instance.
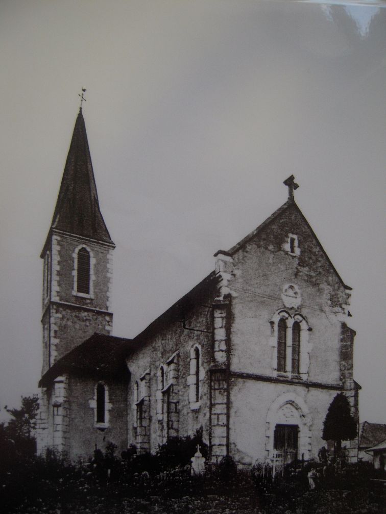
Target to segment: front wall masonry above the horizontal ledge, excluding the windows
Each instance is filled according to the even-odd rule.
[[[285,250],[289,233],[297,236],[297,254]],[[308,353],[303,378],[339,383],[340,325],[347,318],[348,293],[296,209],[288,209],[233,258],[238,274],[230,287],[238,296],[232,302],[231,369],[276,375],[275,316],[285,310],[291,317],[299,313],[309,327],[302,334],[307,348],[301,342],[301,358]],[[297,298],[285,296],[288,285],[295,286]]]

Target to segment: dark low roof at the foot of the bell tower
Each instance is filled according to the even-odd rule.
[[[130,349],[131,339],[95,333],[55,362],[42,376],[39,387],[46,387],[63,373],[124,377],[128,373],[126,356]]]

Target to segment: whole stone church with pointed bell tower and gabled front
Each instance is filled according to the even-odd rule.
[[[82,110],[41,253],[38,452],[88,457],[110,442],[154,452],[202,427],[209,458],[317,457],[344,392],[358,418],[350,290],[288,199],[134,339],[114,337],[114,243],[99,209]]]

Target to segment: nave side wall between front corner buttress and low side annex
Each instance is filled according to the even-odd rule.
[[[212,313],[213,296],[203,296],[196,306],[181,314],[179,321],[165,323],[156,334],[144,341],[140,350],[128,358],[131,373],[129,384],[128,434],[129,444],[136,444],[135,382],[149,374],[149,447],[155,451],[169,435],[194,434],[203,427],[203,436],[209,442],[209,366],[212,362]],[[192,348],[200,348],[200,399],[191,401],[191,355]],[[173,359],[176,356],[177,359]],[[165,391],[159,390],[159,369],[165,368]],[[172,386],[172,387],[171,387]],[[169,391],[170,388],[170,391]],[[167,400],[167,395],[169,398]],[[169,403],[168,421],[164,411],[161,415],[160,399]],[[157,408],[157,402],[159,407]],[[138,425],[138,424],[137,424]]]

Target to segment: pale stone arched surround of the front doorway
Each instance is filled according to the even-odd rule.
[[[286,410],[288,413],[286,415]],[[312,419],[306,402],[296,393],[284,393],[278,396],[271,404],[266,418],[266,458],[270,460],[273,456],[273,434],[276,425],[297,425],[299,426],[299,439],[297,454],[301,457],[304,454],[305,460],[311,456],[311,425]]]

